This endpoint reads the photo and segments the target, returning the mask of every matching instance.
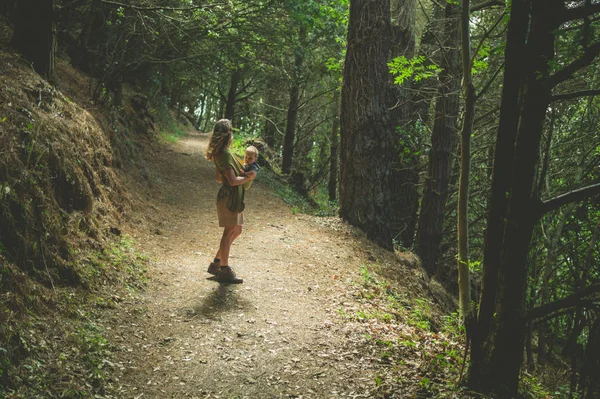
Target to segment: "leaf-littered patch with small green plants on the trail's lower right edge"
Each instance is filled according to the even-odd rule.
[[[378,264],[362,266],[360,279],[351,283],[360,307],[339,310],[356,323],[364,351],[382,364],[375,381],[377,397],[408,389],[415,392],[407,397],[468,397],[456,384],[464,350],[457,314],[440,320],[429,300],[409,296],[381,276],[379,268]],[[407,359],[419,359],[418,367]]]

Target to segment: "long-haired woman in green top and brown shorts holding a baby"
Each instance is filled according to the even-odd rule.
[[[240,161],[229,152],[232,141],[231,121],[221,119],[215,124],[206,150],[206,159],[215,163],[217,181],[223,184],[217,194],[217,216],[219,226],[223,227],[223,236],[217,255],[208,266],[208,273],[216,275],[220,283],[240,284],[243,280],[229,266],[229,250],[233,241],[242,234],[243,185],[253,180],[254,176],[244,175]]]

